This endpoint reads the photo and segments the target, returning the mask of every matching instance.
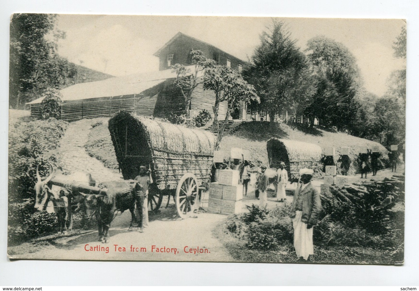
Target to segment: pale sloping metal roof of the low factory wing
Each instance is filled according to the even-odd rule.
[[[189,68],[191,67],[193,66],[189,66]],[[60,92],[62,94],[62,101],[140,94],[171,78],[176,78],[176,74],[172,73],[171,69],[169,69],[113,77],[96,82],[79,83],[64,88],[60,90]],[[41,103],[43,99],[44,98],[41,97],[26,104]]]

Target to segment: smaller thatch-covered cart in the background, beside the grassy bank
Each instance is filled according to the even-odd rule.
[[[290,180],[299,178],[299,171],[303,168],[317,170],[321,159],[321,147],[316,144],[297,142],[289,139],[269,139],[266,143],[269,167],[279,168],[280,162],[285,162]]]

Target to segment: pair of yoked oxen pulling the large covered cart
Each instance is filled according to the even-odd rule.
[[[55,175],[52,170],[51,175],[42,179],[38,168],[36,179],[35,209],[56,213],[60,233],[67,234],[72,229],[72,213],[75,209],[80,209],[83,215],[82,225],[93,215],[96,216],[101,242],[109,242],[112,220],[127,209],[132,218],[129,230],[133,230],[136,227],[134,224],[137,224],[142,232],[142,205],[148,191],[136,180],[102,182],[95,187],[96,181],[90,173]],[[67,182],[63,185],[54,181]]]

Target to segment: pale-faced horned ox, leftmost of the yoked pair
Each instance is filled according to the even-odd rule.
[[[72,213],[74,209],[80,208],[82,210],[83,220],[85,224],[86,217],[88,217],[87,208],[84,206],[84,198],[79,192],[74,192],[70,187],[64,188],[57,185],[52,185],[51,179],[54,176],[54,171],[45,180],[41,179],[38,167],[36,168],[36,183],[35,183],[35,206],[39,211],[47,211],[48,213],[56,213],[59,224],[59,232],[67,234],[68,230],[73,227]],[[95,185],[95,180],[89,173],[73,173],[71,175],[58,175],[59,178],[71,181],[78,181],[80,185]],[[56,178],[56,177],[54,177]]]

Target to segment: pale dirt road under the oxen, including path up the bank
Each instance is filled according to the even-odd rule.
[[[84,144],[91,122],[83,119],[69,124],[60,144],[63,169],[70,173],[88,171],[98,181],[121,179],[117,170],[104,167],[86,153]],[[150,216],[149,227],[142,233],[128,231],[131,214],[125,211],[114,219],[107,244],[98,242],[97,230],[74,230],[67,236],[51,235],[9,247],[8,254],[10,258],[28,259],[234,261],[212,235],[214,227],[227,216],[198,213],[179,219],[173,201],[167,209],[166,201],[163,199],[158,214]]]

